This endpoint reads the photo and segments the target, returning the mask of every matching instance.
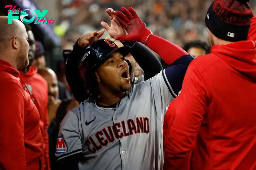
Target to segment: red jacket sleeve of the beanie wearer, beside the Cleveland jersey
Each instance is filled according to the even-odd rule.
[[[188,67],[165,146],[164,169],[178,169],[189,157],[206,110],[206,86],[193,65]]]

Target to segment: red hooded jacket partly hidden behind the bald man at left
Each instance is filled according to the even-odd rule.
[[[35,66],[30,66],[28,72],[20,71],[24,83],[26,84],[32,100],[40,114],[40,128],[44,139],[44,170],[50,170],[49,160],[49,139],[48,139],[48,85],[45,79],[37,73]],[[27,91],[24,87],[24,90]]]

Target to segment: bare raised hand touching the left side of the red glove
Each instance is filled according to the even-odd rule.
[[[100,24],[107,30],[108,34],[112,38],[115,38],[116,35],[126,35],[127,32],[114,17],[116,11],[114,11],[112,8],[108,8],[106,12],[108,13],[108,16],[110,18],[111,26],[109,27],[108,24],[103,21]]]

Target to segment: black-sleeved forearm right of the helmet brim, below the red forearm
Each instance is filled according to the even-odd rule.
[[[131,54],[141,69],[144,70],[144,80],[154,77],[163,70],[157,56],[142,43],[136,42],[132,46]]]

